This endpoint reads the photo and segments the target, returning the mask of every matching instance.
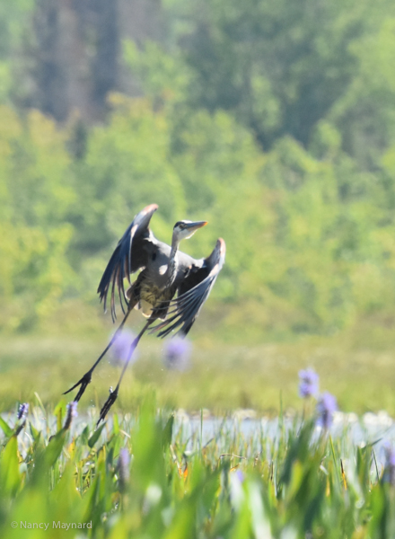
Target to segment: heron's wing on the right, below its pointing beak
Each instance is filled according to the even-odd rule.
[[[162,338],[176,329],[183,335],[188,333],[224,265],[225,251],[224,240],[219,238],[202,266],[192,268],[180,283],[178,297],[170,302],[167,320],[154,326],[151,332],[159,331],[158,337]]]

